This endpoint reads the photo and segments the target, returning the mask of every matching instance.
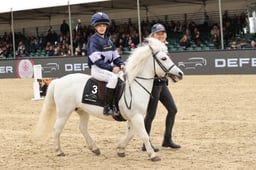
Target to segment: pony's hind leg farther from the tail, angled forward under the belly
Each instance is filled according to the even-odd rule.
[[[93,141],[90,134],[88,133],[89,114],[84,112],[83,110],[77,110],[76,112],[80,116],[79,129],[80,129],[81,133],[83,134],[83,136],[89,146],[89,149],[96,155],[100,155],[99,148],[97,147],[96,143]]]

